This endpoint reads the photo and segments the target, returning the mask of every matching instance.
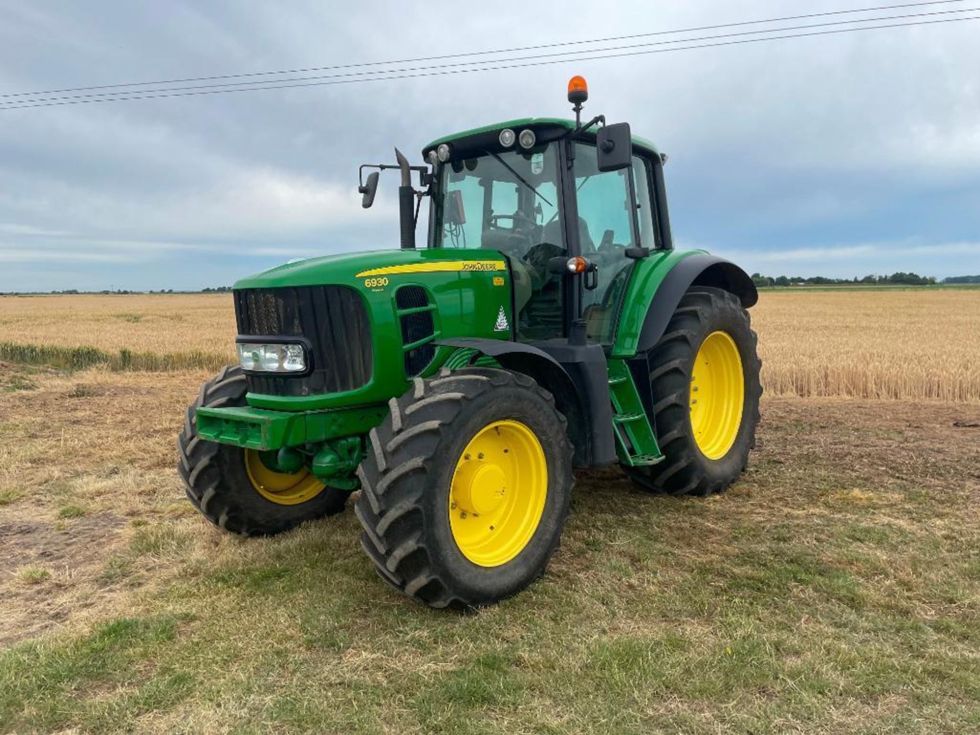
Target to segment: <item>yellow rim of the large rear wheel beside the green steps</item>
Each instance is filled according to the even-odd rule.
[[[745,376],[735,340],[711,332],[701,343],[691,371],[691,431],[698,449],[720,460],[735,443],[742,424]]]

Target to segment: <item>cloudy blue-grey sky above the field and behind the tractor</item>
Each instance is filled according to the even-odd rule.
[[[0,0],[0,94],[875,4],[364,2],[341,13],[335,3],[298,0]],[[821,20],[841,18],[810,23]],[[394,163],[393,146],[421,163],[422,146],[446,133],[569,117],[573,73],[589,82],[586,115],[628,122],[669,155],[678,247],[770,275],[980,273],[978,39],[980,20],[495,72],[0,110],[0,291],[198,289],[298,258],[395,248],[397,178],[382,175],[374,207],[364,210],[359,164]],[[643,40],[662,37],[606,45]]]

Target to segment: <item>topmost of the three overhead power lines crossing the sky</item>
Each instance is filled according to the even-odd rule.
[[[657,30],[657,31],[650,31],[646,33],[631,33],[628,35],[608,36],[605,38],[592,38],[592,39],[584,39],[584,40],[576,40],[576,41],[562,41],[556,43],[538,44],[534,46],[516,46],[512,48],[496,49],[496,50],[470,51],[466,53],[443,54],[440,56],[424,56],[424,57],[416,57],[412,59],[396,59],[396,60],[379,61],[379,62],[360,62],[357,64],[340,64],[340,65],[333,65],[327,67],[307,67],[304,69],[287,69],[287,70],[279,70],[276,72],[251,72],[251,73],[217,74],[211,76],[188,76],[188,77],[177,78],[177,79],[158,79],[156,81],[130,81],[130,82],[123,82],[119,84],[98,84],[98,85],[79,86],[79,87],[63,87],[61,89],[45,89],[45,90],[34,91],[34,92],[13,92],[7,94],[0,94],[0,98],[28,97],[28,96],[33,97],[42,94],[60,94],[62,92],[81,92],[81,91],[89,91],[93,89],[114,89],[120,87],[157,86],[160,84],[182,84],[191,81],[238,79],[238,78],[252,77],[252,76],[277,76],[277,75],[292,74],[292,73],[330,72],[330,71],[336,71],[342,69],[359,69],[365,67],[390,66],[393,64],[416,64],[419,62],[445,61],[448,59],[464,59],[467,57],[475,57],[475,56],[494,56],[494,55],[501,55],[501,54],[510,54],[519,51],[538,51],[546,48],[560,48],[564,46],[608,43],[611,41],[624,41],[624,40],[631,40],[634,38],[648,38],[648,37],[661,36],[661,35],[672,35],[676,33],[692,33],[692,32],[697,32],[702,30],[717,30],[720,28],[731,28],[731,27],[739,27],[744,25],[786,23],[789,21],[803,21],[803,20],[809,20],[813,18],[825,18],[830,16],[854,15],[857,13],[874,13],[874,12],[885,11],[885,10],[898,10],[902,8],[918,8],[927,5],[952,5],[956,3],[962,3],[962,2],[965,2],[965,0],[932,0],[931,2],[901,3],[897,5],[879,5],[870,8],[855,8],[853,10],[836,10],[836,11],[826,11],[823,13],[809,13],[800,16],[784,16],[782,18],[767,18],[767,19],[760,19],[754,21],[739,21],[734,23],[725,23],[725,24],[716,24],[716,25],[699,25],[699,26],[688,27],[688,28],[675,28],[673,30]],[[956,12],[956,11],[951,11],[951,12]],[[967,11],[961,11],[961,12],[967,12]],[[873,21],[875,19],[864,19],[864,20]],[[861,20],[858,19],[853,23],[860,23],[860,22]],[[385,73],[385,72],[381,71],[379,73]],[[131,91],[144,92],[147,90],[137,89]]]

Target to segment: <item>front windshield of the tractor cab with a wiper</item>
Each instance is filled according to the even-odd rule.
[[[548,261],[567,255],[559,206],[558,143],[483,152],[440,168],[432,198],[429,247],[482,248],[508,257],[517,334],[562,334],[562,278]]]

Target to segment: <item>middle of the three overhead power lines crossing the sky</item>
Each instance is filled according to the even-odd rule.
[[[695,37],[678,38],[674,40],[665,40],[665,41],[647,41],[644,43],[627,44],[623,46],[607,46],[605,48],[587,49],[582,51],[562,51],[562,52],[556,52],[550,54],[532,54],[530,56],[516,56],[511,58],[494,59],[489,61],[459,62],[456,64],[444,64],[444,65],[425,65],[421,67],[387,69],[387,70],[377,71],[377,72],[346,72],[346,73],[321,74],[316,76],[292,76],[292,77],[284,77],[280,79],[270,80],[270,82],[262,82],[262,81],[222,82],[219,84],[199,84],[193,86],[161,87],[157,89],[126,90],[126,91],[119,91],[119,92],[93,92],[89,94],[73,94],[73,95],[55,96],[55,97],[34,97],[29,100],[13,100],[8,103],[0,102],[0,110],[5,109],[4,104],[7,104],[9,106],[18,106],[23,104],[24,106],[26,106],[28,103],[33,105],[35,103],[57,102],[62,100],[111,101],[112,99],[127,99],[132,94],[149,95],[151,93],[158,93],[158,92],[160,93],[184,92],[184,91],[190,91],[196,89],[221,89],[226,91],[239,91],[234,89],[235,87],[255,87],[260,89],[270,89],[272,88],[269,86],[270,83],[287,87],[289,86],[287,82],[319,81],[322,79],[341,79],[341,78],[351,79],[352,77],[370,77],[378,74],[428,72],[433,70],[448,70],[448,69],[460,68],[460,67],[475,67],[476,65],[481,65],[481,64],[499,64],[499,63],[515,64],[516,62],[535,61],[539,59],[550,59],[556,57],[575,57],[574,60],[577,61],[582,58],[581,56],[582,54],[589,54],[589,53],[599,53],[599,52],[609,53],[613,51],[626,51],[626,50],[636,49],[636,48],[648,48],[651,46],[676,45],[679,43],[693,43],[696,41],[711,41],[711,40],[717,40],[722,38],[736,38],[739,36],[746,36],[746,35],[758,35],[760,33],[772,34],[777,32],[785,32],[788,30],[803,30],[803,29],[819,28],[819,27],[826,27],[832,25],[853,25],[856,23],[872,23],[872,22],[880,23],[882,21],[906,20],[909,18],[922,18],[927,16],[944,16],[944,15],[951,15],[951,14],[958,15],[961,13],[973,12],[975,10],[977,9],[967,8],[962,10],[911,13],[911,14],[898,15],[898,16],[879,16],[876,18],[863,19],[858,21],[850,21],[850,20],[830,21],[827,23],[818,23],[818,24],[809,24],[809,25],[785,25],[778,28],[767,28],[761,30],[743,30],[734,33],[719,33],[716,35],[695,36]],[[478,71],[478,70],[474,70],[474,71]],[[352,79],[352,80],[357,80],[357,79]],[[266,84],[266,86],[258,86],[264,83]],[[97,100],[96,98],[105,98],[105,99]]]

